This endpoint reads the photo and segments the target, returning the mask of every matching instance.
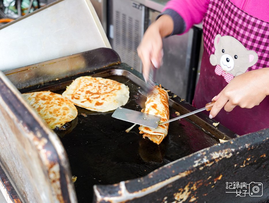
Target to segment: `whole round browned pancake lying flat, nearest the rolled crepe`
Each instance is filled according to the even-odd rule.
[[[129,88],[115,80],[82,76],[74,80],[62,95],[82,108],[107,112],[128,102]]]

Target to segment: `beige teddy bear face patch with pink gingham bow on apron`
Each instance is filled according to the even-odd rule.
[[[210,63],[216,66],[215,73],[222,75],[227,83],[235,76],[245,73],[258,60],[255,51],[247,50],[231,36],[217,34],[214,46],[215,53],[210,55]]]

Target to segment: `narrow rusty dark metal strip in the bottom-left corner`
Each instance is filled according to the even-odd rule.
[[[1,165],[0,165],[0,181],[4,187],[4,190],[6,191],[6,194],[8,195],[7,197],[9,198],[9,202],[11,201],[14,203],[22,203],[18,193],[14,189],[13,185],[11,184]]]

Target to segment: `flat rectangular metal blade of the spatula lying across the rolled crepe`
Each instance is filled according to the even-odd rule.
[[[136,123],[149,128],[157,128],[161,117],[118,107],[112,114],[113,118]]]

